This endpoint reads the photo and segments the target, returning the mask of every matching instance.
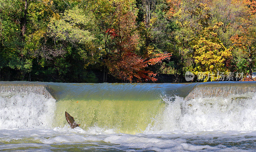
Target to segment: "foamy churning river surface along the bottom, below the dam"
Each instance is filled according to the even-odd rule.
[[[104,130],[98,128],[96,130]],[[96,131],[97,132],[97,131]],[[0,130],[0,150],[46,151],[243,151],[256,148],[256,132],[108,133],[69,126]]]

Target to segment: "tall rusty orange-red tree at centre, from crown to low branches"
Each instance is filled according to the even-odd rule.
[[[111,55],[105,60],[105,63],[111,75],[124,82],[156,81],[156,73],[145,68],[148,65],[162,62],[171,54],[142,57],[134,53],[139,41],[135,14],[134,10],[125,9],[122,3],[117,4],[115,14],[117,20],[111,29],[106,30],[106,33],[115,40],[116,47],[112,49]]]

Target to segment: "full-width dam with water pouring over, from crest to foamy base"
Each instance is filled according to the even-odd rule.
[[[69,127],[67,111],[84,130],[256,130],[255,86],[0,81],[0,129]]]

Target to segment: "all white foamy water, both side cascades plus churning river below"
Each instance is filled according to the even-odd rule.
[[[0,93],[1,151],[255,151],[256,95],[165,97],[165,110],[139,134],[97,126],[53,127],[56,101]],[[63,119],[65,117],[63,116]]]

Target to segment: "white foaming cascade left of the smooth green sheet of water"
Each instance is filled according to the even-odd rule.
[[[0,129],[49,128],[56,100],[34,93],[0,92]]]

